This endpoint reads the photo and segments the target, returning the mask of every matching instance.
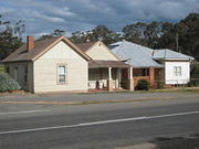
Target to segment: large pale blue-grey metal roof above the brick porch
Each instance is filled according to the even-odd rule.
[[[113,53],[133,67],[163,67],[151,58],[154,51],[151,49],[127,41],[113,43],[109,47]]]

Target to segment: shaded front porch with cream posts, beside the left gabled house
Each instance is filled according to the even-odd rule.
[[[129,86],[132,83],[126,84],[129,78],[123,76],[124,71],[133,74],[130,70],[129,65],[121,61],[91,61],[88,63],[88,89],[134,89]],[[130,81],[133,81],[133,77]]]

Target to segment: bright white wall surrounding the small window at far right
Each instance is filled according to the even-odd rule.
[[[181,76],[175,76],[174,67],[181,66]],[[190,79],[190,62],[165,62],[166,84],[187,84]]]

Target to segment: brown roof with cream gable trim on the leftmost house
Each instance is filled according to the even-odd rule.
[[[28,52],[27,44],[23,44],[13,53],[11,53],[8,57],[6,57],[2,62],[21,62],[21,61],[35,61],[40,56],[42,56],[45,52],[48,52],[51,47],[53,47],[60,41],[64,41],[71,49],[73,49],[76,53],[78,53],[86,61],[91,60],[84,52],[82,52],[75,44],[73,44],[67,38],[59,36],[51,38],[42,41],[34,42],[34,49]]]

